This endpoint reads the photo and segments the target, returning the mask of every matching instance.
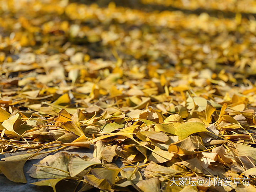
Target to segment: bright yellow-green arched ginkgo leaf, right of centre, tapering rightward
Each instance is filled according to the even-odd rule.
[[[180,124],[178,127],[176,127],[175,134],[178,135],[180,140],[182,140],[186,139],[193,133],[198,132],[208,132],[208,130],[204,127],[203,123],[191,122]]]

